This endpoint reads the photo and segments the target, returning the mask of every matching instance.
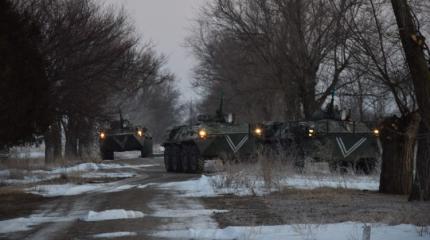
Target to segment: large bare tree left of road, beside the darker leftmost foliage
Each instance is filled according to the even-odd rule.
[[[98,121],[117,111],[123,96],[157,81],[163,61],[148,46],[138,47],[123,11],[103,8],[93,0],[21,1],[39,22],[44,36],[41,50],[47,59],[47,76],[55,98],[51,109],[66,136],[65,153],[76,158],[88,152]],[[57,123],[53,123],[56,126]],[[58,138],[61,128],[52,127],[46,138]],[[58,141],[47,141],[59,148]]]

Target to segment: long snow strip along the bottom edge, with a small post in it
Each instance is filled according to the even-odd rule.
[[[153,234],[155,237],[169,239],[318,239],[344,240],[362,239],[363,223],[344,222],[336,224],[297,224],[256,227],[227,227],[224,229],[186,229],[167,230]],[[420,235],[420,228],[414,225],[388,226],[371,225],[372,240],[428,240],[430,233]]]

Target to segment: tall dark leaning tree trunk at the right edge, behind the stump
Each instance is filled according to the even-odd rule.
[[[430,200],[430,51],[420,32],[419,21],[405,0],[391,1],[400,39],[415,87],[423,136],[418,144],[417,174],[411,199]],[[427,56],[424,51],[427,51]],[[428,59],[426,59],[426,57]]]

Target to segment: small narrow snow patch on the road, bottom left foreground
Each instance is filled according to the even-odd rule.
[[[89,211],[87,216],[83,217],[82,220],[87,222],[92,221],[105,221],[115,219],[131,219],[131,218],[142,218],[145,214],[139,211],[131,211],[124,209],[112,209],[101,212]]]

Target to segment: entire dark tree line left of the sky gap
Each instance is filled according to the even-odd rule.
[[[6,93],[0,97],[1,145],[43,135],[47,162],[61,159],[63,152],[66,159],[86,158],[94,155],[97,129],[119,111],[129,117],[178,111],[179,93],[174,75],[164,69],[165,58],[142,41],[124,10],[94,0],[0,4],[1,92]],[[178,119],[133,120],[163,128]]]

